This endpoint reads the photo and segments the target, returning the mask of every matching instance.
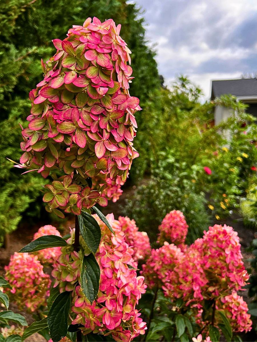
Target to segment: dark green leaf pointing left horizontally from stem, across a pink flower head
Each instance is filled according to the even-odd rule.
[[[51,247],[62,247],[67,246],[67,242],[57,235],[45,235],[38,239],[30,242],[28,245],[23,247],[19,253],[23,252],[36,252],[41,249],[51,248]]]

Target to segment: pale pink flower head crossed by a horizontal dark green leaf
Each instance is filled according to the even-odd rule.
[[[44,235],[61,236],[61,234],[58,232],[56,227],[53,227],[50,224],[48,224],[38,229],[38,231],[34,234],[33,240],[36,240],[39,237],[44,236]],[[34,254],[37,255],[38,260],[40,260],[42,264],[45,264],[45,263],[52,264],[61,255],[61,247],[41,249],[38,252],[34,252]]]

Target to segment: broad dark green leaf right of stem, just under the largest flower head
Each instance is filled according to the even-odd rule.
[[[101,229],[99,224],[96,219],[86,211],[82,211],[81,215],[78,215],[78,223],[79,230],[87,247],[95,254],[101,240]]]

